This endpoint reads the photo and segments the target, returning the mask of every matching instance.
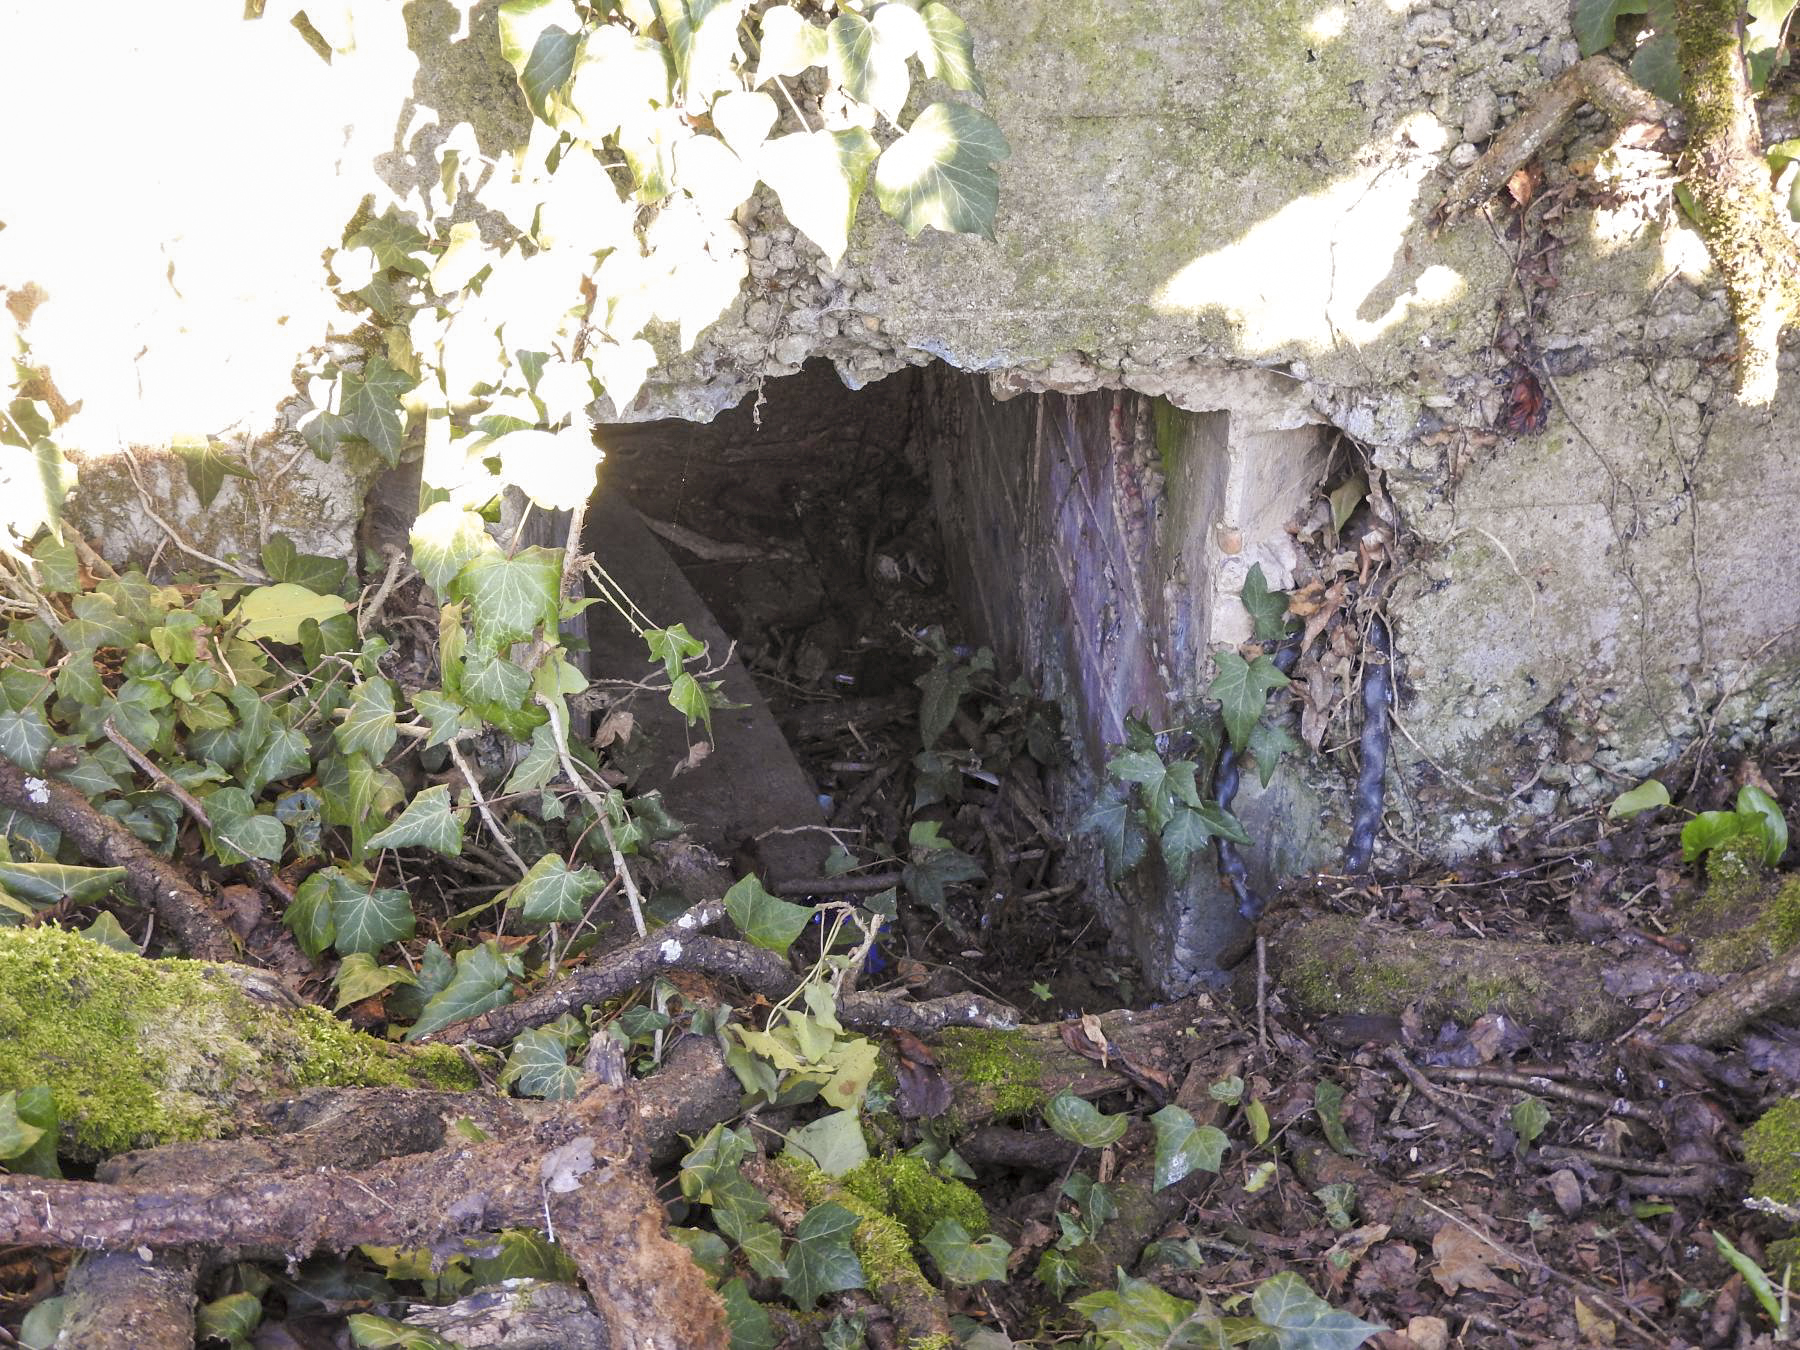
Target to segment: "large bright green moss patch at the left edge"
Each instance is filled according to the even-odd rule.
[[[227,967],[0,929],[0,1091],[32,1084],[50,1087],[63,1147],[104,1156],[221,1134],[241,1093],[468,1089],[475,1075],[448,1046],[401,1051],[322,1008],[261,1003]]]

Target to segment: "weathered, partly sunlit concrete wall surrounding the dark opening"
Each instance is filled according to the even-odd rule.
[[[490,153],[517,140],[495,5],[371,11],[356,54],[329,67],[275,22],[234,25],[227,41],[243,47],[221,59],[122,0],[103,9],[83,11],[86,56],[124,58],[104,108],[45,119],[31,115],[29,81],[0,92],[0,113],[34,126],[56,169],[32,180],[32,202],[54,211],[7,211],[0,284],[50,292],[31,337],[63,394],[90,400],[77,450],[180,434],[261,443],[304,409],[295,369],[347,326],[319,257],[364,194],[428,182],[428,151],[455,121]],[[1791,398],[1764,414],[1730,403],[1724,304],[1667,205],[1667,164],[1613,151],[1598,122],[1548,157],[1546,191],[1589,175],[1616,191],[1532,225],[1532,256],[1548,227],[1559,261],[1530,322],[1508,212],[1438,236],[1426,227],[1449,171],[1573,61],[1564,0],[959,11],[1013,149],[997,243],[907,243],[864,203],[850,256],[826,268],[772,211],[747,212],[745,297],[693,353],[668,351],[630,409],[598,412],[704,419],[812,356],[850,383],[941,358],[988,374],[995,394],[1165,394],[1199,414],[1181,436],[1224,448],[1199,477],[1177,464],[1143,506],[1166,515],[1157,585],[1195,598],[1177,614],[1145,590],[1145,650],[1161,655],[1127,664],[1139,691],[1174,700],[1215,644],[1242,634],[1237,569],[1262,560],[1278,572],[1280,522],[1307,486],[1303,428],[1345,428],[1386,472],[1413,535],[1391,612],[1400,716],[1418,749],[1397,745],[1391,796],[1422,850],[1472,848],[1501,817],[1604,797],[1696,734],[1795,729],[1800,590],[1771,558],[1786,556],[1800,493],[1800,412]],[[20,50],[54,43],[54,13],[7,11],[25,25],[9,29]],[[292,115],[216,115],[268,110],[270,97],[292,99]],[[108,112],[119,106],[133,115]],[[158,121],[171,106],[178,117]],[[329,122],[315,115],[326,106]],[[203,185],[221,162],[223,198]],[[1543,434],[1487,434],[1507,324],[1550,376]],[[995,427],[1091,416],[1053,401],[994,409]],[[1139,441],[1127,448],[1141,457]],[[315,500],[356,491],[346,473],[292,511],[220,511],[205,526],[261,531],[290,511],[320,524],[304,547],[347,551],[347,511]],[[1111,488],[1098,491],[1094,509],[1118,517]],[[1238,553],[1220,547],[1220,527]],[[115,553],[131,545],[106,533]],[[234,545],[225,533],[194,542],[254,551],[256,535]],[[988,621],[1003,623],[1006,603],[985,599]],[[1109,706],[1089,707],[1089,736],[1103,736]],[[1312,778],[1330,787],[1323,770]]]

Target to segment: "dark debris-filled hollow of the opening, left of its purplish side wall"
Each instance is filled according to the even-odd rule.
[[[639,625],[709,643],[742,704],[709,736],[661,691],[626,688],[650,673],[644,644],[596,605],[596,677],[621,682],[641,742],[612,752],[632,790],[661,790],[781,895],[895,889],[886,956],[927,995],[1129,1001],[1134,961],[1107,954],[1085,904],[1087,841],[1058,826],[1073,761],[1058,709],[959,603],[972,551],[963,531],[947,549],[932,472],[958,383],[977,380],[902,371],[848,391],[821,362],[709,425],[599,428],[589,549]]]

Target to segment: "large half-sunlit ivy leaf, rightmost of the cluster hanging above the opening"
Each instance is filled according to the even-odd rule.
[[[907,236],[927,225],[994,238],[999,171],[1012,149],[986,113],[963,103],[934,103],[875,166],[875,200]]]

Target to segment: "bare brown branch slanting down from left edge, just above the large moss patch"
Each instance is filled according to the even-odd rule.
[[[0,806],[54,824],[85,859],[106,868],[124,868],[124,889],[137,904],[202,961],[241,961],[243,952],[223,916],[182,871],[149,851],[149,846],[110,815],[101,815],[67,783],[20,769],[0,756]]]

